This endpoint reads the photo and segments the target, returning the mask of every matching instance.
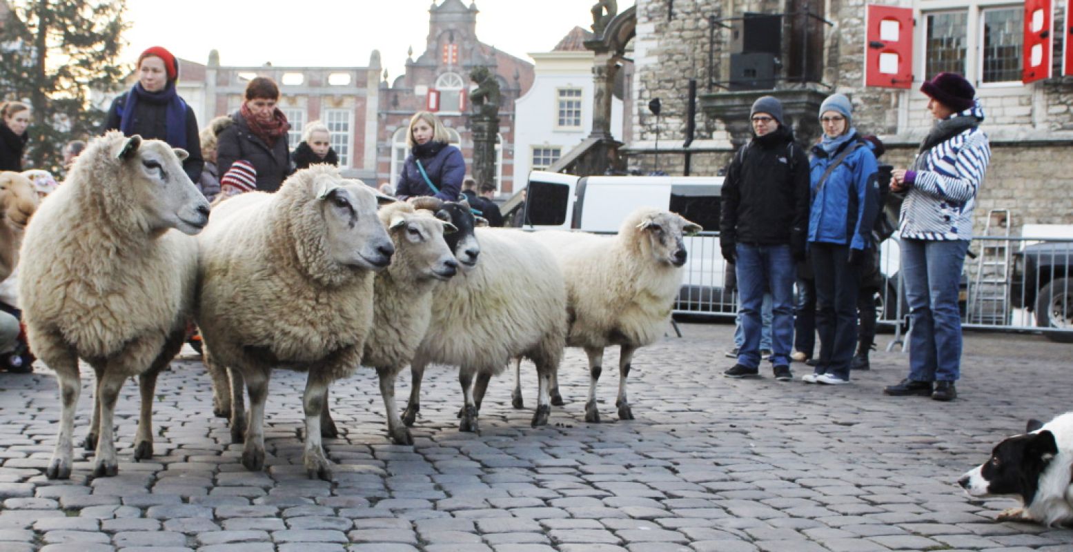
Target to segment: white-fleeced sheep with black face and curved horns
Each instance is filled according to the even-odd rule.
[[[476,432],[488,379],[520,355],[533,360],[540,381],[532,425],[546,424],[548,386],[567,334],[565,284],[555,258],[525,232],[471,230],[474,217],[465,202],[433,200],[431,207],[450,215],[458,227],[446,239],[462,270],[436,291],[428,333],[411,364],[413,384],[403,423],[414,423],[425,366],[435,362],[459,366],[465,405],[458,428]]]

